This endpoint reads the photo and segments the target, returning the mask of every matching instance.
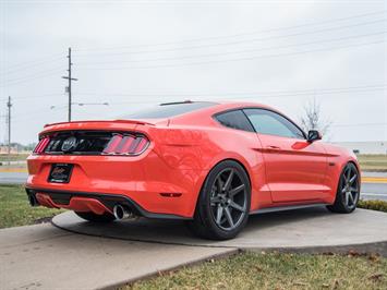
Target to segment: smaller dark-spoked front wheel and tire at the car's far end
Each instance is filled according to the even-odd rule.
[[[349,162],[340,174],[336,200],[327,208],[332,213],[350,214],[358,205],[360,196],[360,174],[354,164]]]

